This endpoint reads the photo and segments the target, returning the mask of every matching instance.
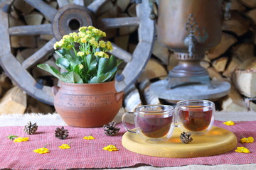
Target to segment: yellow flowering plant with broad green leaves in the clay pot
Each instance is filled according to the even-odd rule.
[[[112,81],[122,60],[108,54],[112,44],[101,40],[104,37],[106,33],[93,26],[81,27],[78,33],[64,35],[54,44],[55,52],[60,56],[55,64],[67,72],[60,73],[48,64],[38,64],[38,67],[68,83]]]

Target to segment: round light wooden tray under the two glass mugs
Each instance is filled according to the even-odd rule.
[[[122,137],[122,145],[138,154],[146,154],[153,157],[206,157],[215,154],[223,154],[234,149],[237,138],[229,130],[213,128],[206,135],[193,135],[193,141],[183,144],[179,139],[181,130],[174,129],[174,135],[170,140],[159,143],[144,142],[138,134],[126,132]]]

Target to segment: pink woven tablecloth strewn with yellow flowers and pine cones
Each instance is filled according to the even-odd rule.
[[[225,128],[241,136],[252,136],[256,139],[256,121],[235,122],[236,125],[227,126],[223,122],[215,121],[215,126]],[[250,154],[238,153],[233,149],[225,154],[212,157],[197,157],[190,159],[159,158],[136,154],[122,147],[124,128],[114,137],[104,134],[102,128],[72,128],[66,140],[59,140],[54,136],[55,126],[38,127],[36,135],[26,135],[23,127],[1,127],[0,140],[0,168],[9,169],[82,169],[82,168],[117,168],[134,166],[135,164],[148,164],[151,166],[183,166],[189,164],[255,164],[256,142],[242,144],[238,147],[247,147]],[[6,138],[8,135],[29,137],[27,142],[13,142]],[[95,140],[83,140],[82,137],[92,134]],[[70,144],[70,149],[59,149],[62,144]],[[48,154],[37,154],[34,149],[43,147],[46,143],[50,149]],[[119,151],[108,152],[103,150],[107,145],[115,145]]]

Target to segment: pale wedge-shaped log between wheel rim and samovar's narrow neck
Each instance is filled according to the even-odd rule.
[[[166,77],[166,76],[167,76],[167,72],[166,72],[166,69],[163,67],[163,65],[157,62],[156,60],[151,59],[146,64],[145,69],[143,70],[142,74],[140,75],[139,79],[137,79],[137,81],[141,82],[144,79],[151,80],[151,79]]]

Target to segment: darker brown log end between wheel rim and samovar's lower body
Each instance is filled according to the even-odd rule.
[[[161,45],[158,40],[154,41],[152,53],[157,58],[159,58],[159,60],[161,60],[161,62],[168,65],[170,51],[167,47],[164,47],[164,45]]]

